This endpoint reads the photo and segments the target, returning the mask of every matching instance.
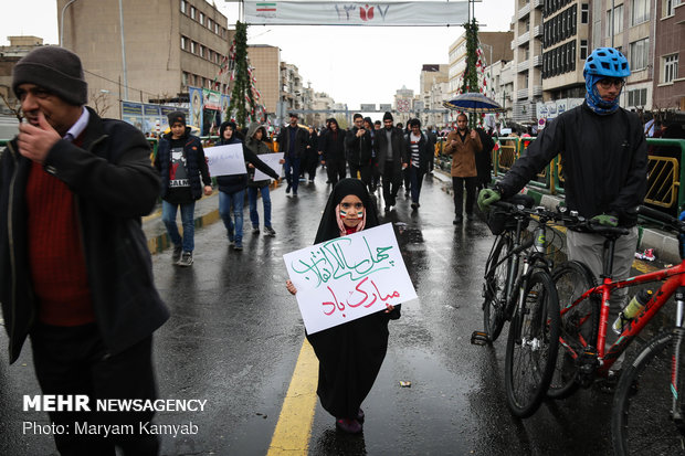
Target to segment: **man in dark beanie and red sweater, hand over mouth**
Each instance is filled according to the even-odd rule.
[[[157,455],[154,415],[103,412],[96,400],[156,400],[152,332],[168,318],[140,218],[159,195],[143,134],[85,107],[76,54],[41,46],[13,70],[28,120],[0,161],[0,301],[10,362],[31,336],[43,394],[84,395],[89,411],[56,407],[62,455]],[[83,435],[75,422],[131,434]],[[126,427],[128,428],[128,427]]]

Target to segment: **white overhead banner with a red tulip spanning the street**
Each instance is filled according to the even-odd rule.
[[[253,25],[460,25],[468,21],[467,1],[243,2]]]

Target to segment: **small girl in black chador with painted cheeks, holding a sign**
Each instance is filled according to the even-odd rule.
[[[342,179],[333,189],[315,244],[378,225],[376,205],[359,179]],[[297,289],[286,282],[293,295]],[[313,335],[307,340],[319,360],[317,394],[324,409],[347,433],[361,432],[366,399],[388,349],[388,321],[400,318],[400,305]]]

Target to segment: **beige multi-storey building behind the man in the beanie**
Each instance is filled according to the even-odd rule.
[[[119,100],[187,103],[190,86],[226,92],[220,67],[233,32],[205,0],[57,0],[57,11],[62,45],[81,56],[89,92],[113,97],[105,115],[118,117]]]

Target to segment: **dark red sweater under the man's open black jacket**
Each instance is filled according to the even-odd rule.
[[[54,326],[95,321],[74,193],[33,162],[27,209],[29,262],[40,321]]]

